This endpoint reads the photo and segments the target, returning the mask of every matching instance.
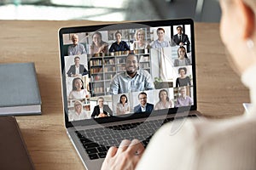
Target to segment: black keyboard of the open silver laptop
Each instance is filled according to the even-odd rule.
[[[84,150],[90,160],[105,158],[111,146],[119,146],[123,139],[138,139],[144,147],[162,124],[172,121],[174,118],[166,118],[164,121],[154,120],[148,122],[127,123],[118,126],[98,127],[76,131]]]

